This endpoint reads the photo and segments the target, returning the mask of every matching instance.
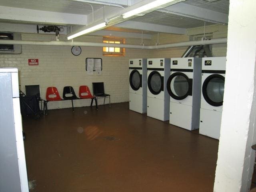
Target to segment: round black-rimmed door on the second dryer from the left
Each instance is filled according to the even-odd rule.
[[[152,71],[148,76],[148,89],[154,95],[164,90],[164,77],[157,71]]]

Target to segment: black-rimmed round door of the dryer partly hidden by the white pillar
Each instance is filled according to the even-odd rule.
[[[203,83],[202,93],[206,102],[212,106],[222,106],[225,78],[220,74],[208,76]]]

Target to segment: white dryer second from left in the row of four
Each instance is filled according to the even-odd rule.
[[[148,116],[169,120],[170,96],[166,89],[170,75],[170,58],[148,59]]]

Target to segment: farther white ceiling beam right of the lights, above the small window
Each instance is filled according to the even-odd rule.
[[[142,23],[142,22],[136,22],[136,21],[125,21],[120,24],[116,24],[115,26],[120,28],[155,31],[155,32],[162,32],[162,33],[186,34],[186,29],[184,28],[156,25],[156,24],[150,24],[150,23]]]

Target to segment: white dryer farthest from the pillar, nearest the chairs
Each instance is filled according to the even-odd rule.
[[[129,60],[129,109],[147,112],[147,59]]]

